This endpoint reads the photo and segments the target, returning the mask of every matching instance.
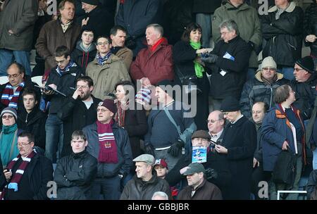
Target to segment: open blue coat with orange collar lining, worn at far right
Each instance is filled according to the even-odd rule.
[[[299,117],[299,111],[293,108],[295,115],[302,123],[302,119]],[[263,170],[272,172],[275,166],[276,160],[278,160],[278,154],[282,151],[282,145],[284,141],[288,142],[290,149],[295,153],[294,137],[292,134],[292,128],[290,121],[283,114],[283,110],[278,105],[271,108],[263,119],[262,123],[262,151],[263,151]],[[304,129],[304,125],[303,125]],[[295,139],[296,141],[296,139]],[[305,148],[305,142],[302,141],[303,148]],[[303,151],[304,156],[305,152]]]

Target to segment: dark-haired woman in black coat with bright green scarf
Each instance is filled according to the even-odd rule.
[[[201,48],[202,29],[197,23],[187,25],[182,38],[173,46],[173,60],[175,69],[175,82],[180,85],[197,84],[197,102],[194,103],[197,108],[194,121],[197,130],[207,130],[206,118],[209,114],[209,80],[207,78],[207,69],[201,62],[201,53],[207,53],[210,49]],[[182,75],[193,77],[192,82],[184,82]],[[188,79],[188,78],[186,78]],[[186,89],[185,89],[186,92]],[[190,97],[190,96],[189,96]],[[191,105],[193,105],[191,103]]]

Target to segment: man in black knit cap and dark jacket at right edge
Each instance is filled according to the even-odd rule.
[[[291,87],[296,92],[294,106],[299,109],[304,120],[311,118],[316,98],[317,74],[314,68],[311,56],[300,58],[294,65],[294,80],[291,82]]]

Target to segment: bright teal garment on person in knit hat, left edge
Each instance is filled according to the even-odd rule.
[[[2,125],[2,131],[0,134],[0,153],[2,165],[7,165],[13,158],[18,156],[18,137],[15,137],[15,142],[13,142],[14,149],[10,157],[11,145],[14,139],[15,130],[18,129],[16,123],[14,125]],[[10,160],[11,159],[11,160]]]

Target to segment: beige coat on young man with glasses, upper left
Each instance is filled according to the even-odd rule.
[[[86,75],[94,80],[92,95],[104,100],[109,93],[115,92],[115,85],[123,80],[131,81],[125,63],[116,55],[111,55],[104,65],[99,65],[97,59],[89,63]]]

